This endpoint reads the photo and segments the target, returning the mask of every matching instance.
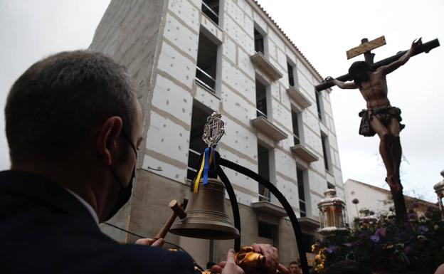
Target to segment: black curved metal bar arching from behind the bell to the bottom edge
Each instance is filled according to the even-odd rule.
[[[279,189],[277,189],[276,186],[271,184],[270,181],[267,181],[259,174],[253,172],[250,169],[247,169],[246,167],[242,167],[239,164],[228,161],[227,159],[223,159],[223,158],[218,157],[217,162],[216,162],[216,172],[217,172],[218,176],[221,178],[221,180],[223,181],[223,184],[225,184],[226,189],[228,191],[228,196],[230,197],[231,206],[233,208],[234,226],[236,226],[236,222],[238,222],[238,226],[236,226],[236,228],[238,228],[239,233],[240,233],[240,217],[239,217],[238,202],[236,200],[236,195],[234,194],[233,186],[231,186],[230,181],[228,180],[226,174],[223,172],[223,170],[221,169],[220,166],[228,167],[229,169],[233,169],[236,172],[239,172],[245,176],[249,176],[251,179],[258,181],[259,184],[262,184],[268,190],[270,190],[271,193],[273,195],[275,195],[277,200],[280,201],[280,204],[282,204],[285,211],[287,212],[288,217],[290,218],[290,221],[291,221],[292,227],[293,227],[293,231],[295,232],[296,241],[297,241],[297,243],[296,243],[297,244],[297,251],[299,252],[302,273],[309,274],[310,271],[308,269],[307,256],[305,255],[305,246],[302,241],[302,231],[300,229],[299,222],[297,221],[297,217],[295,215],[295,212],[293,211],[292,207],[288,203],[287,199],[285,199],[285,196],[279,191]],[[228,189],[230,189],[230,190],[228,190]],[[232,194],[231,194],[231,192],[232,192]],[[232,196],[233,196],[233,198],[232,198]],[[236,221],[235,206],[233,206],[234,204],[237,209],[236,210],[237,211],[237,218],[238,218],[237,221]],[[240,248],[240,238],[237,238],[235,240],[235,248],[234,249],[236,251],[238,251],[238,249],[236,249],[236,248]]]

